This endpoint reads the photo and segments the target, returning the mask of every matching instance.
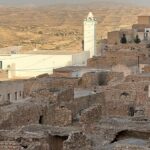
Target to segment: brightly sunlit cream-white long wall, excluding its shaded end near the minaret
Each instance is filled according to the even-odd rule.
[[[31,77],[43,73],[52,73],[54,68],[72,65],[72,55],[33,55],[14,54],[10,56],[0,56],[3,62],[3,69],[11,67],[10,70],[17,77]]]

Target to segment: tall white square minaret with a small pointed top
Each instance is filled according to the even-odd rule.
[[[90,57],[96,56],[96,19],[89,12],[84,20],[84,51],[90,52]]]

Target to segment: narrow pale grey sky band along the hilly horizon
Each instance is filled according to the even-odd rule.
[[[111,3],[111,4],[133,4],[133,5],[140,5],[140,6],[147,6],[150,7],[149,0],[126,0],[125,2],[122,0],[0,0],[1,6],[47,6],[47,5],[58,5],[58,4],[88,4],[88,3]]]

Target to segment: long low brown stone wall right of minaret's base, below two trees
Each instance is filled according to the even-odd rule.
[[[145,54],[124,51],[114,51],[107,53],[106,56],[98,56],[88,60],[88,67],[96,68],[111,68],[112,66],[122,64],[126,66],[137,66],[138,65],[138,56],[140,56],[140,63],[148,63],[150,60],[146,57]]]

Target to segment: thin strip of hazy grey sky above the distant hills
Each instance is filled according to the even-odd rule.
[[[150,0],[0,0],[0,5],[47,5],[56,3],[86,3],[93,1],[136,3],[140,5],[150,6]]]

